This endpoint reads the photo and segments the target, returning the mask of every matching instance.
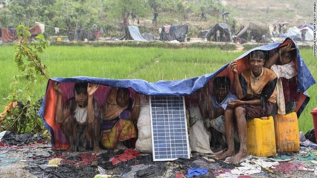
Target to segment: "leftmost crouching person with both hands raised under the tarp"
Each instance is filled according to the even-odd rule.
[[[74,96],[62,103],[62,92],[59,82],[53,82],[57,94],[55,118],[62,132],[69,141],[65,151],[84,151],[86,146],[93,148],[93,154],[101,154],[99,148],[100,126],[98,121],[99,105],[93,94],[97,84],[76,83]]]

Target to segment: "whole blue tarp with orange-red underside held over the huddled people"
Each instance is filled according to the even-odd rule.
[[[275,43],[270,45],[263,45],[253,48],[241,56],[237,57],[237,70],[240,73],[242,70],[248,67],[247,65],[247,55],[256,49],[269,51],[273,54],[277,51],[278,47],[285,45],[286,39],[283,43]],[[297,50],[297,69],[298,69],[298,91],[300,92],[300,101],[298,102],[298,107],[296,109],[298,116],[301,114],[305,106],[309,101],[309,97],[306,90],[316,83],[313,75],[306,66],[301,54],[299,53],[298,45],[296,45]],[[228,76],[231,80],[231,90],[233,91],[233,74],[228,69],[228,64],[225,64],[220,69],[211,74],[205,74],[200,77],[176,80],[176,81],[158,81],[151,83],[141,79],[106,79],[106,78],[94,78],[94,77],[70,77],[70,78],[53,78],[48,81],[47,90],[43,102],[41,104],[38,116],[43,119],[45,127],[52,134],[52,148],[53,149],[66,149],[68,147],[68,142],[65,139],[64,134],[61,132],[59,124],[55,122],[55,107],[57,95],[53,89],[53,82],[57,81],[61,84],[62,99],[65,101],[67,98],[73,96],[73,86],[76,82],[89,82],[94,84],[99,84],[100,87],[94,94],[94,97],[102,105],[107,98],[109,93],[109,87],[119,87],[119,88],[129,88],[131,95],[133,91],[140,92],[145,95],[152,96],[186,96],[186,100],[190,99],[197,101],[197,90],[202,89],[208,82],[212,86],[212,79],[215,76]],[[212,90],[212,89],[211,89]]]

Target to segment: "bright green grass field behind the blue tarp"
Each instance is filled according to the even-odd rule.
[[[89,76],[111,79],[179,80],[212,73],[245,51],[229,52],[217,48],[137,48],[137,47],[93,47],[93,46],[50,46],[40,54],[51,78]],[[11,77],[17,74],[13,46],[0,48],[2,78],[0,102],[10,92]],[[300,51],[310,71],[317,78],[316,62],[312,50]],[[310,111],[317,107],[317,87],[308,89],[311,101],[299,120],[300,131],[306,133],[313,128]],[[46,84],[39,84],[37,93],[44,96]],[[0,107],[3,110],[4,105]]]

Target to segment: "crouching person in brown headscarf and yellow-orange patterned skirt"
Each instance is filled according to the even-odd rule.
[[[137,137],[134,121],[140,114],[140,93],[134,103],[127,88],[111,88],[101,107],[101,144],[108,150],[126,149],[123,141]]]

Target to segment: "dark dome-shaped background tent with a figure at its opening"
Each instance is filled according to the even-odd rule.
[[[220,42],[231,42],[231,32],[226,23],[215,24],[205,36],[205,38],[207,38],[208,41],[216,42],[217,30],[220,32]]]

